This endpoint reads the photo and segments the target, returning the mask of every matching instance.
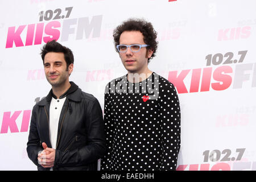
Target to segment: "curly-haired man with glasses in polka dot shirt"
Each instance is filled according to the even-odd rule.
[[[107,152],[101,170],[175,170],[180,150],[180,104],[174,85],[148,69],[158,46],[151,23],[129,19],[114,30],[127,75],[106,85]]]

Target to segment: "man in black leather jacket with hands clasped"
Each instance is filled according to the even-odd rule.
[[[28,157],[38,170],[96,171],[106,150],[101,106],[69,81],[74,61],[69,48],[52,40],[41,55],[52,89],[33,107]]]

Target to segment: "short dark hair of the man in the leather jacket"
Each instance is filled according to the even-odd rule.
[[[41,49],[40,54],[43,59],[43,63],[44,63],[44,56],[46,56],[46,54],[48,52],[63,52],[65,61],[67,63],[67,69],[70,64],[74,63],[74,56],[73,56],[71,49],[69,49],[65,46],[62,46],[60,43],[56,42],[56,40],[47,42],[47,44],[45,44],[43,46],[43,48]]]

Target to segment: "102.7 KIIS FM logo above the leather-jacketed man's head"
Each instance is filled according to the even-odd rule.
[[[40,23],[9,27],[6,48],[12,48],[13,43],[15,43],[16,47],[32,46],[42,44],[42,41],[47,43],[51,40],[59,40],[59,38],[61,42],[65,42],[69,40],[69,35],[72,34],[75,34],[76,40],[84,38],[84,34],[86,39],[91,34],[93,38],[100,37],[102,15],[93,16],[91,20],[89,20],[89,17],[64,19],[69,18],[71,10],[71,7],[66,8],[67,15],[62,16],[61,9],[56,9],[54,13],[52,10],[41,11],[39,14]],[[52,18],[54,20],[51,22],[42,22]],[[62,22],[62,20],[58,19],[64,20]]]

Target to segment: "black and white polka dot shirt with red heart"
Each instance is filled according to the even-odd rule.
[[[174,85],[156,73],[138,83],[127,75],[105,90],[107,152],[101,170],[175,170],[180,104]]]

